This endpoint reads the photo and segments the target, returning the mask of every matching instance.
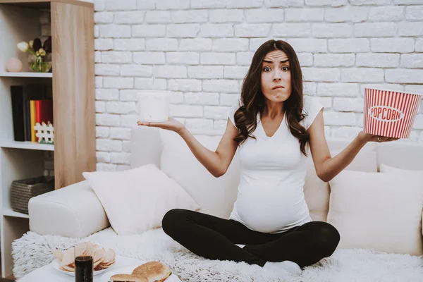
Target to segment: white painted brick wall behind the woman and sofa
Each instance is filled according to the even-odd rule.
[[[94,0],[97,169],[128,168],[137,90],[172,90],[171,116],[224,130],[257,48],[284,39],[325,133],[362,130],[364,87],[423,92],[422,0]],[[40,19],[42,24],[49,20]],[[411,142],[423,142],[423,105]]]

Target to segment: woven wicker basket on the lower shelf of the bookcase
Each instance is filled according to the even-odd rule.
[[[32,197],[54,190],[54,176],[39,176],[15,180],[11,185],[11,205],[15,212],[28,214],[28,202]]]

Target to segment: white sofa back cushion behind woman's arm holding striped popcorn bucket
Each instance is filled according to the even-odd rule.
[[[328,145],[329,150],[331,151],[331,156],[335,157],[343,149],[345,149],[348,144],[349,142],[346,142],[345,140],[329,140]],[[376,172],[376,147],[374,143],[367,143],[367,145],[362,147],[355,159],[353,159],[351,164],[349,164],[345,169],[351,171]],[[309,154],[307,163],[304,195],[312,220],[326,221],[326,217],[329,212],[329,183],[325,183],[317,176],[311,154]]]

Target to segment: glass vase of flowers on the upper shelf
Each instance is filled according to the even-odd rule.
[[[19,42],[18,49],[28,52],[30,69],[37,73],[51,73],[51,36],[42,43],[39,37],[30,42]]]

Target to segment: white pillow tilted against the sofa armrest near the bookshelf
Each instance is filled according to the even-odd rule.
[[[155,164],[82,175],[102,202],[118,235],[140,234],[159,228],[164,214],[170,209],[200,209],[190,195]]]

